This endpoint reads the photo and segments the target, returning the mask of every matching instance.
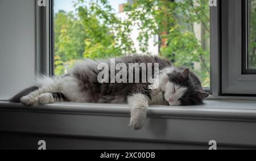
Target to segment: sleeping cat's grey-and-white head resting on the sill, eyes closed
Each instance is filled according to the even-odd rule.
[[[172,106],[199,105],[209,94],[203,92],[201,82],[189,69],[175,68],[166,74],[161,90],[164,99]]]

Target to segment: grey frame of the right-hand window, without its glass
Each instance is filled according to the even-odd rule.
[[[256,75],[242,73],[246,33],[242,2],[221,1],[221,96],[256,96]]]

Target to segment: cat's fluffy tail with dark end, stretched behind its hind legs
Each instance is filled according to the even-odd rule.
[[[23,96],[29,95],[31,92],[34,92],[38,90],[40,87],[46,86],[47,84],[53,83],[53,78],[47,77],[45,75],[36,75],[35,77],[35,84],[32,87],[28,87],[25,90],[19,92],[13,98],[11,98],[9,101],[11,103],[20,103],[20,99]]]

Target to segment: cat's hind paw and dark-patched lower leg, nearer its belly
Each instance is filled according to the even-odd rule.
[[[38,103],[39,105],[44,105],[55,103],[56,101],[68,101],[68,99],[61,92],[52,92],[41,94],[36,100],[36,103]]]

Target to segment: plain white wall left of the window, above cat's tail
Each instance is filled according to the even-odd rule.
[[[0,99],[32,84],[35,0],[0,0]]]

